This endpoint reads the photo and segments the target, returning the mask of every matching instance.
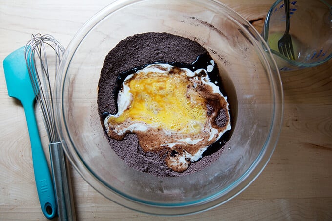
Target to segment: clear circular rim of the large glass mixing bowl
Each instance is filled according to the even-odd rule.
[[[113,188],[110,188],[102,181],[102,179],[96,176],[96,174],[94,174],[92,170],[88,168],[88,166],[84,163],[83,159],[80,158],[80,155],[78,153],[69,150],[69,149],[75,150],[75,148],[71,146],[72,145],[71,143],[73,142],[67,132],[68,128],[65,123],[66,121],[64,116],[65,111],[63,109],[64,107],[62,103],[62,101],[65,98],[63,96],[62,91],[65,84],[67,70],[71,63],[73,55],[75,54],[77,48],[80,46],[82,40],[91,31],[91,29],[93,29],[93,27],[97,25],[99,21],[103,20],[109,14],[121,10],[123,7],[127,7],[131,4],[144,2],[144,1],[149,1],[149,0],[121,0],[121,1],[117,0],[109,4],[108,6],[104,7],[104,9],[95,14],[92,18],[90,18],[90,20],[88,20],[82,26],[82,28],[76,33],[74,38],[70,41],[63,55],[63,59],[61,61],[59,68],[59,74],[56,77],[56,83],[55,83],[56,127],[58,134],[60,136],[62,147],[66,153],[66,156],[68,157],[74,168],[83,177],[83,179],[87,183],[89,183],[89,185],[91,185],[95,190],[104,195],[107,199],[116,202],[122,206],[125,206],[126,208],[139,212],[145,212],[148,214],[167,215],[167,216],[194,214],[214,208],[233,199],[235,196],[244,191],[265,168],[265,166],[269,162],[274,152],[274,149],[276,147],[280,135],[281,123],[283,118],[282,83],[272,53],[268,45],[261,37],[261,35],[256,31],[256,29],[246,19],[244,19],[241,15],[239,15],[237,12],[235,12],[227,5],[217,0],[207,0],[207,2],[211,4],[217,4],[219,5],[219,7],[223,8],[226,14],[233,20],[233,22],[236,22],[240,27],[243,28],[243,31],[247,32],[253,37],[253,39],[257,40],[257,45],[261,44],[260,46],[261,52],[263,53],[264,51],[265,53],[267,53],[267,56],[269,57],[268,59],[270,62],[266,61],[266,63],[271,65],[268,68],[270,72],[269,77],[273,91],[274,103],[273,103],[273,117],[271,118],[272,122],[269,129],[269,136],[266,139],[264,146],[262,147],[255,161],[252,162],[251,166],[242,176],[240,176],[235,182],[231,183],[228,187],[226,187],[222,191],[219,191],[218,193],[215,193],[214,195],[211,195],[203,200],[199,201],[196,200],[186,204],[154,203],[148,201],[139,201],[138,199],[126,196],[124,193],[118,192]],[[191,2],[191,1],[192,0],[186,0],[186,2]],[[177,2],[177,1],[171,0],[169,2]],[[236,17],[236,19],[233,17]],[[238,20],[240,20],[241,22],[239,22]],[[266,58],[264,57],[264,59]],[[64,133],[64,131],[66,133]],[[222,195],[222,197],[220,196],[221,192],[225,193],[224,195]]]

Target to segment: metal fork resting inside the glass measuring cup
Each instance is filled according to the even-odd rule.
[[[290,60],[295,60],[293,42],[289,34],[290,31],[290,0],[284,0],[284,7],[286,13],[286,30],[284,35],[278,41],[279,52]]]

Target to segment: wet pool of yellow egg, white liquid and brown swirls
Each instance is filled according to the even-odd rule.
[[[108,136],[121,140],[137,134],[145,152],[166,151],[167,166],[177,172],[230,130],[226,98],[205,69],[148,65],[125,78],[117,103],[118,112],[104,120]],[[222,126],[215,121],[220,111],[227,118]]]

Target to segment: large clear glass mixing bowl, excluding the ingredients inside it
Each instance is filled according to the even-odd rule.
[[[97,111],[104,58],[137,33],[168,32],[198,41],[220,69],[233,113],[232,136],[209,167],[158,178],[127,166],[110,147]],[[259,33],[214,0],[123,0],[89,20],[67,47],[56,79],[57,129],[82,177],[108,199],[150,214],[207,210],[243,191],[268,163],[280,132],[278,68]]]

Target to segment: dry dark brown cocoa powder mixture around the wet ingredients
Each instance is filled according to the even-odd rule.
[[[120,41],[105,57],[101,70],[97,100],[101,124],[104,126],[104,112],[111,114],[117,112],[114,88],[119,73],[155,62],[191,64],[199,55],[203,54],[208,55],[208,52],[197,42],[168,33],[137,34]],[[217,67],[215,66],[215,68]],[[223,115],[225,117],[225,113],[221,111],[216,119],[220,124],[224,123]],[[228,132],[223,135],[222,139],[227,137],[227,134]],[[178,173],[166,166],[165,151],[144,152],[139,146],[135,134],[127,134],[122,141],[111,139],[108,136],[107,138],[116,154],[129,166],[158,177],[182,176],[202,170],[219,158],[225,146],[220,148],[222,145],[218,141],[216,145],[205,151],[201,160],[191,163],[183,173]],[[226,141],[221,142],[225,144]]]

